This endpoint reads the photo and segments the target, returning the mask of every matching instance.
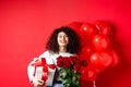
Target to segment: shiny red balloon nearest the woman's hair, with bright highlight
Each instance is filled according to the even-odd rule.
[[[80,33],[83,39],[92,39],[92,37],[97,34],[97,29],[92,24],[83,23]]]

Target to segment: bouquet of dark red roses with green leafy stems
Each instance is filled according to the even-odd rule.
[[[60,67],[60,77],[64,87],[80,87],[80,64],[78,57],[57,59],[57,66]]]

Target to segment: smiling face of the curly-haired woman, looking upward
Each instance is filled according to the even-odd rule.
[[[69,42],[69,37],[64,32],[60,32],[57,37],[59,47],[67,47]]]

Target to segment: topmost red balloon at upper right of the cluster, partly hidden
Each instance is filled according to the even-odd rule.
[[[94,25],[99,30],[99,34],[104,34],[104,35],[109,35],[110,34],[111,27],[107,22],[95,21]]]

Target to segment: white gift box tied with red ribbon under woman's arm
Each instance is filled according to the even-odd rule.
[[[45,86],[51,86],[55,75],[55,64],[47,64],[46,59],[36,59],[31,63],[34,67],[33,76],[35,79],[41,79],[45,82]]]

